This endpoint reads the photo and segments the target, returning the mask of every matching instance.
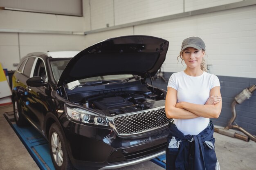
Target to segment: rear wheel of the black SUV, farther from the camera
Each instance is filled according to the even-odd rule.
[[[13,99],[13,114],[15,122],[18,126],[26,126],[28,124],[27,120],[25,119],[24,115],[22,115],[23,110],[18,102],[18,98],[14,97]]]

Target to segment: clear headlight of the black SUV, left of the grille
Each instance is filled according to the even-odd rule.
[[[99,116],[81,108],[71,108],[65,105],[65,112],[68,117],[76,121],[81,121],[86,124],[108,126],[106,117]]]

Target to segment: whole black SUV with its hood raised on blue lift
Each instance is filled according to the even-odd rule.
[[[112,169],[163,155],[166,91],[148,82],[167,49],[161,38],[131,35],[81,52],[30,53],[13,75],[16,124],[29,122],[49,141],[56,170]]]

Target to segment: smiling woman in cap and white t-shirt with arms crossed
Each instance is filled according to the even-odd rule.
[[[182,42],[184,71],[173,73],[167,86],[166,116],[172,118],[167,137],[166,170],[215,170],[213,124],[221,111],[220,82],[207,73],[205,44],[199,37]]]

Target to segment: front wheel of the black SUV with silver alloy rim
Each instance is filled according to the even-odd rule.
[[[49,148],[52,162],[56,170],[76,170],[68,156],[65,138],[61,128],[52,124],[49,129]]]

